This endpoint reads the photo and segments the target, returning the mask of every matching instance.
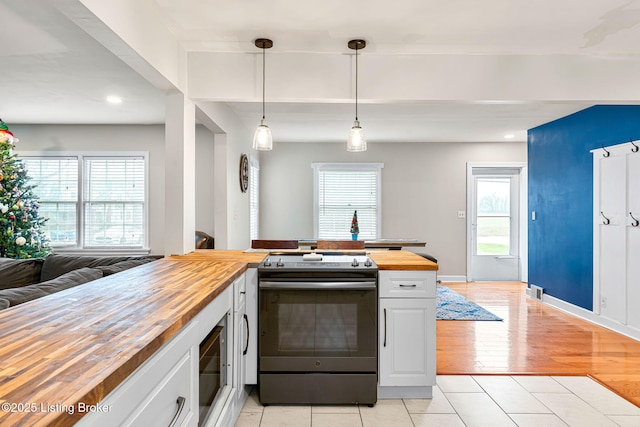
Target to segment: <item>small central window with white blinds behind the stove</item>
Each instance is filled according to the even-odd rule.
[[[380,235],[382,163],[314,163],[314,228],[317,239],[350,239],[358,212],[359,239]]]

